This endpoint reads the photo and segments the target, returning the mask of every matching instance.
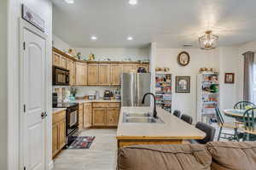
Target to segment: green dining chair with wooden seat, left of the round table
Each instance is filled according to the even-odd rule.
[[[229,140],[239,140],[238,139],[238,133],[237,133],[237,129],[239,127],[238,123],[236,122],[224,122],[224,118],[221,115],[218,107],[215,108],[216,111],[216,116],[217,116],[217,120],[218,120],[218,126],[219,128],[219,133],[218,133],[218,141],[219,139],[229,139]],[[234,130],[234,134],[232,133],[223,133],[223,127],[225,128],[230,128],[232,130]]]

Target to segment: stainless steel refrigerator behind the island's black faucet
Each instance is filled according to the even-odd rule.
[[[121,77],[122,106],[150,106],[150,96],[142,104],[143,95],[150,92],[150,73],[123,73]]]

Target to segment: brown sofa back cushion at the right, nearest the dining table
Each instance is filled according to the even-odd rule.
[[[212,170],[255,170],[256,142],[210,142]]]

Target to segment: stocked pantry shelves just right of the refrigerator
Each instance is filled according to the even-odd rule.
[[[156,105],[172,112],[172,74],[166,72],[155,73]]]

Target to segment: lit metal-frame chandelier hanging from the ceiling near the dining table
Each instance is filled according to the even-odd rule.
[[[209,50],[216,48],[218,36],[212,34],[212,31],[206,31],[205,35],[199,37],[201,49]]]

